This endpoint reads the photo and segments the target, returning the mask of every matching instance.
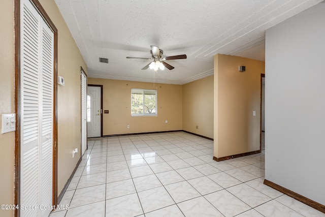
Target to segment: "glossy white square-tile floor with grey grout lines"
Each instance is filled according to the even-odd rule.
[[[90,139],[50,216],[325,216],[264,185],[264,157],[216,162],[184,132]]]

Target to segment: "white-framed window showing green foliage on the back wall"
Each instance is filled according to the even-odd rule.
[[[157,115],[157,90],[131,89],[131,115]]]

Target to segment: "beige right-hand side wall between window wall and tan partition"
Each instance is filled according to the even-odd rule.
[[[213,76],[183,85],[183,130],[213,138]]]

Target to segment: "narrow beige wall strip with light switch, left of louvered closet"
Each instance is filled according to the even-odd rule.
[[[14,113],[14,2],[0,7],[0,113]],[[1,121],[1,116],[0,116]],[[0,204],[14,204],[15,132],[0,134]],[[0,209],[0,216],[13,216]]]

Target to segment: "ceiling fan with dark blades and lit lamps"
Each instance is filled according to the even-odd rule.
[[[158,69],[165,69],[165,67],[169,70],[174,69],[175,67],[169,65],[168,63],[165,62],[165,60],[170,60],[170,59],[186,59],[187,56],[186,54],[182,55],[176,55],[176,56],[165,56],[163,57],[163,50],[160,50],[159,47],[151,45],[151,58],[146,58],[146,57],[132,57],[132,56],[126,56],[127,59],[150,59],[152,60],[148,65],[142,68],[142,70],[146,70],[148,68],[153,69],[153,70],[158,70]]]

